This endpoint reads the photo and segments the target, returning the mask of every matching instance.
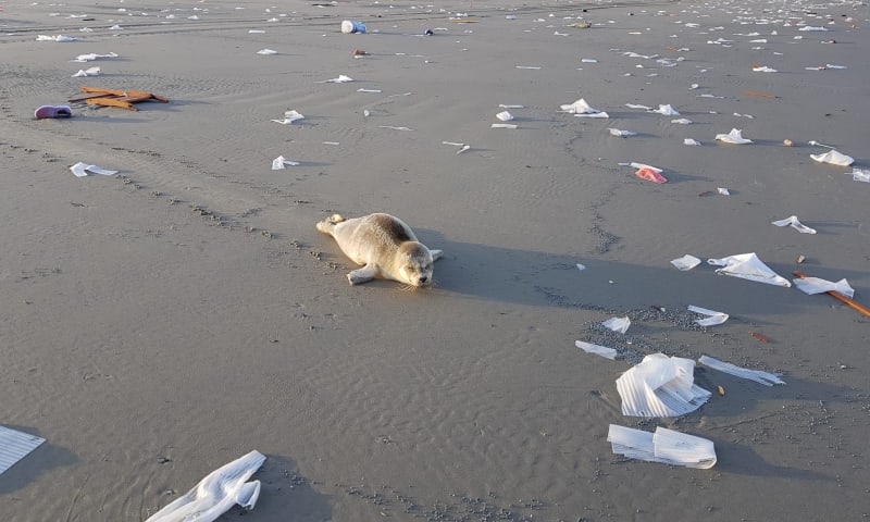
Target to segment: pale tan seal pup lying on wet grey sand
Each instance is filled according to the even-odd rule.
[[[444,256],[417,240],[400,219],[374,213],[345,220],[339,214],[318,223],[318,231],[333,236],[345,256],[361,269],[347,274],[351,285],[375,277],[398,281],[410,287],[432,285],[433,262]]]

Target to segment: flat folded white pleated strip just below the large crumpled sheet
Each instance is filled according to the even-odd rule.
[[[613,453],[647,462],[707,470],[717,461],[712,440],[661,426],[649,433],[610,424],[607,442]]]

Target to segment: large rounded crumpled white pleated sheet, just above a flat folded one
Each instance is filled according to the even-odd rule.
[[[700,408],[710,393],[695,384],[695,361],[664,353],[646,356],[617,380],[622,414],[680,417]]]

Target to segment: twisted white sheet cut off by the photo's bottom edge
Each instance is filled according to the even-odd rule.
[[[213,522],[238,504],[253,509],[260,498],[260,481],[247,482],[265,462],[253,450],[206,475],[199,484],[151,515],[146,522]]]

